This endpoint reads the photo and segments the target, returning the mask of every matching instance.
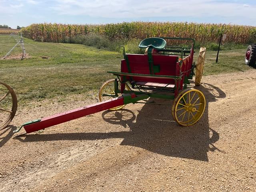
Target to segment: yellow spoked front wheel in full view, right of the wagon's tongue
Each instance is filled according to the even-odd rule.
[[[184,89],[174,99],[172,116],[182,126],[195,124],[203,115],[206,101],[204,94],[197,89]]]

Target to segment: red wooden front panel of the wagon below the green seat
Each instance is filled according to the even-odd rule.
[[[126,60],[121,61],[121,72],[135,73],[135,74],[150,74],[150,64],[148,62],[148,55],[141,54],[126,54],[130,66],[130,71]],[[178,56],[152,54],[154,66],[159,66],[160,71],[154,75],[180,75],[180,65],[178,63]],[[128,77],[131,80],[130,77]],[[132,77],[135,82],[151,82],[162,84],[174,84],[174,79],[158,79],[147,77]],[[160,84],[159,84],[160,85]]]

